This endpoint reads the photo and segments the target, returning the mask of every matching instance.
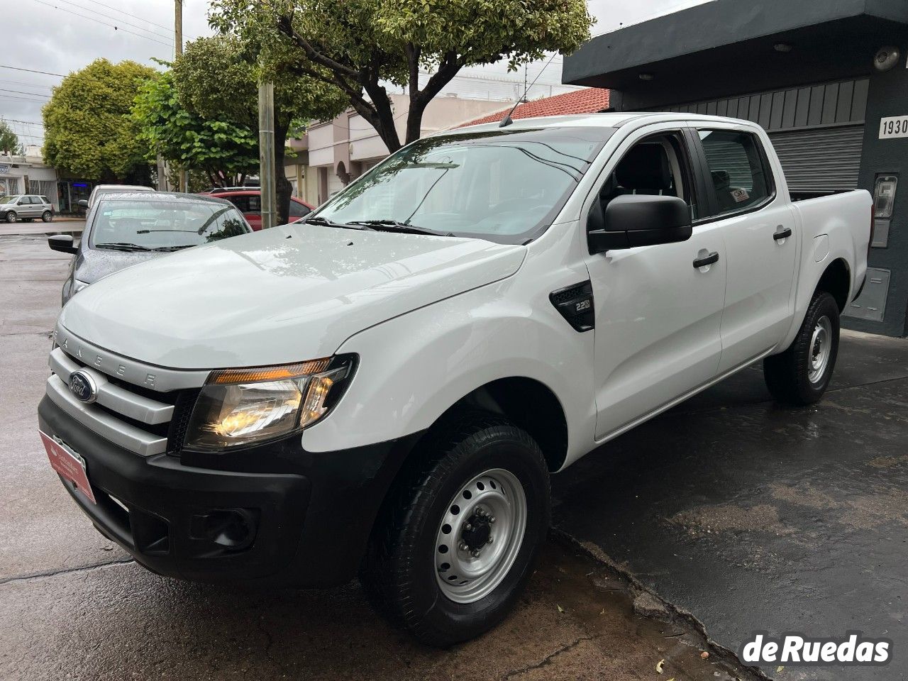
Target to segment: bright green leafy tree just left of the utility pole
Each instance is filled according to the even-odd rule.
[[[142,84],[133,120],[149,161],[160,153],[179,170],[203,173],[208,186],[242,185],[247,174],[258,170],[257,132],[224,114],[208,119],[187,109],[173,87],[170,71]]]

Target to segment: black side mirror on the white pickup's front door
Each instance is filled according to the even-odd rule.
[[[608,202],[605,214],[597,204],[589,216],[594,227],[587,232],[590,253],[686,242],[693,233],[690,207],[676,196],[617,196]]]

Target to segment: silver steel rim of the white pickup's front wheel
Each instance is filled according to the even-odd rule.
[[[455,603],[488,596],[514,566],[526,529],[527,495],[513,473],[490,469],[462,485],[436,533],[441,593]],[[487,531],[491,541],[481,541]]]

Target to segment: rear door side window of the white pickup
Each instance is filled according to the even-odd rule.
[[[755,136],[733,130],[699,133],[716,188],[719,214],[743,211],[764,202],[772,190]]]

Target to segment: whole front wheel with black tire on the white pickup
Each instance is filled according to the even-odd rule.
[[[548,532],[548,467],[524,430],[484,414],[417,454],[376,522],[360,581],[392,621],[447,647],[495,627],[526,586]],[[476,574],[454,574],[464,568]]]

